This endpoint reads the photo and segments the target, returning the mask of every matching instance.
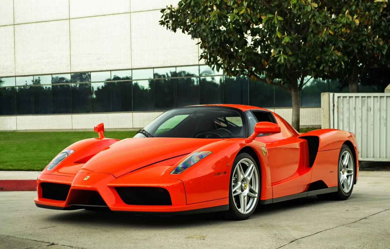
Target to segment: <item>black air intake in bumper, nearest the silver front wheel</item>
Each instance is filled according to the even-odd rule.
[[[168,190],[159,187],[115,187],[127,205],[172,206]]]

